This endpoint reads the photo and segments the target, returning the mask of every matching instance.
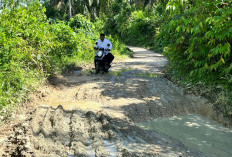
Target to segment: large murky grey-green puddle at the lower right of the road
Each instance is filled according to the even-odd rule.
[[[157,118],[137,125],[180,140],[187,148],[196,149],[211,157],[232,156],[232,130],[200,115]]]

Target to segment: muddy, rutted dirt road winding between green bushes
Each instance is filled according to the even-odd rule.
[[[0,156],[211,156],[160,123],[148,129],[159,118],[210,116],[212,109],[163,76],[162,55],[130,49],[134,57],[114,62],[108,74],[71,71],[41,87],[0,134]]]

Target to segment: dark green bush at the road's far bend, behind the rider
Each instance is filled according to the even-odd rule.
[[[117,6],[121,6],[121,10],[115,9]],[[104,29],[107,33],[118,36],[127,44],[146,47],[153,45],[157,27],[156,14],[147,10],[136,10],[125,2],[113,4],[112,9],[116,10],[116,13],[104,17]]]

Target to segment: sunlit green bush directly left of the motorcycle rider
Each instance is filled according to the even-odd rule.
[[[78,61],[90,61],[93,58],[94,40],[88,34],[80,30],[73,31],[62,21],[51,25],[50,31],[55,35],[52,65],[58,66],[58,69],[64,68],[69,62],[73,64]]]

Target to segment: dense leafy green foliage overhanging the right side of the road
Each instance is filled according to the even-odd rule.
[[[221,91],[213,100],[232,117],[231,1],[169,0],[166,9],[156,46],[169,58],[175,76]]]

